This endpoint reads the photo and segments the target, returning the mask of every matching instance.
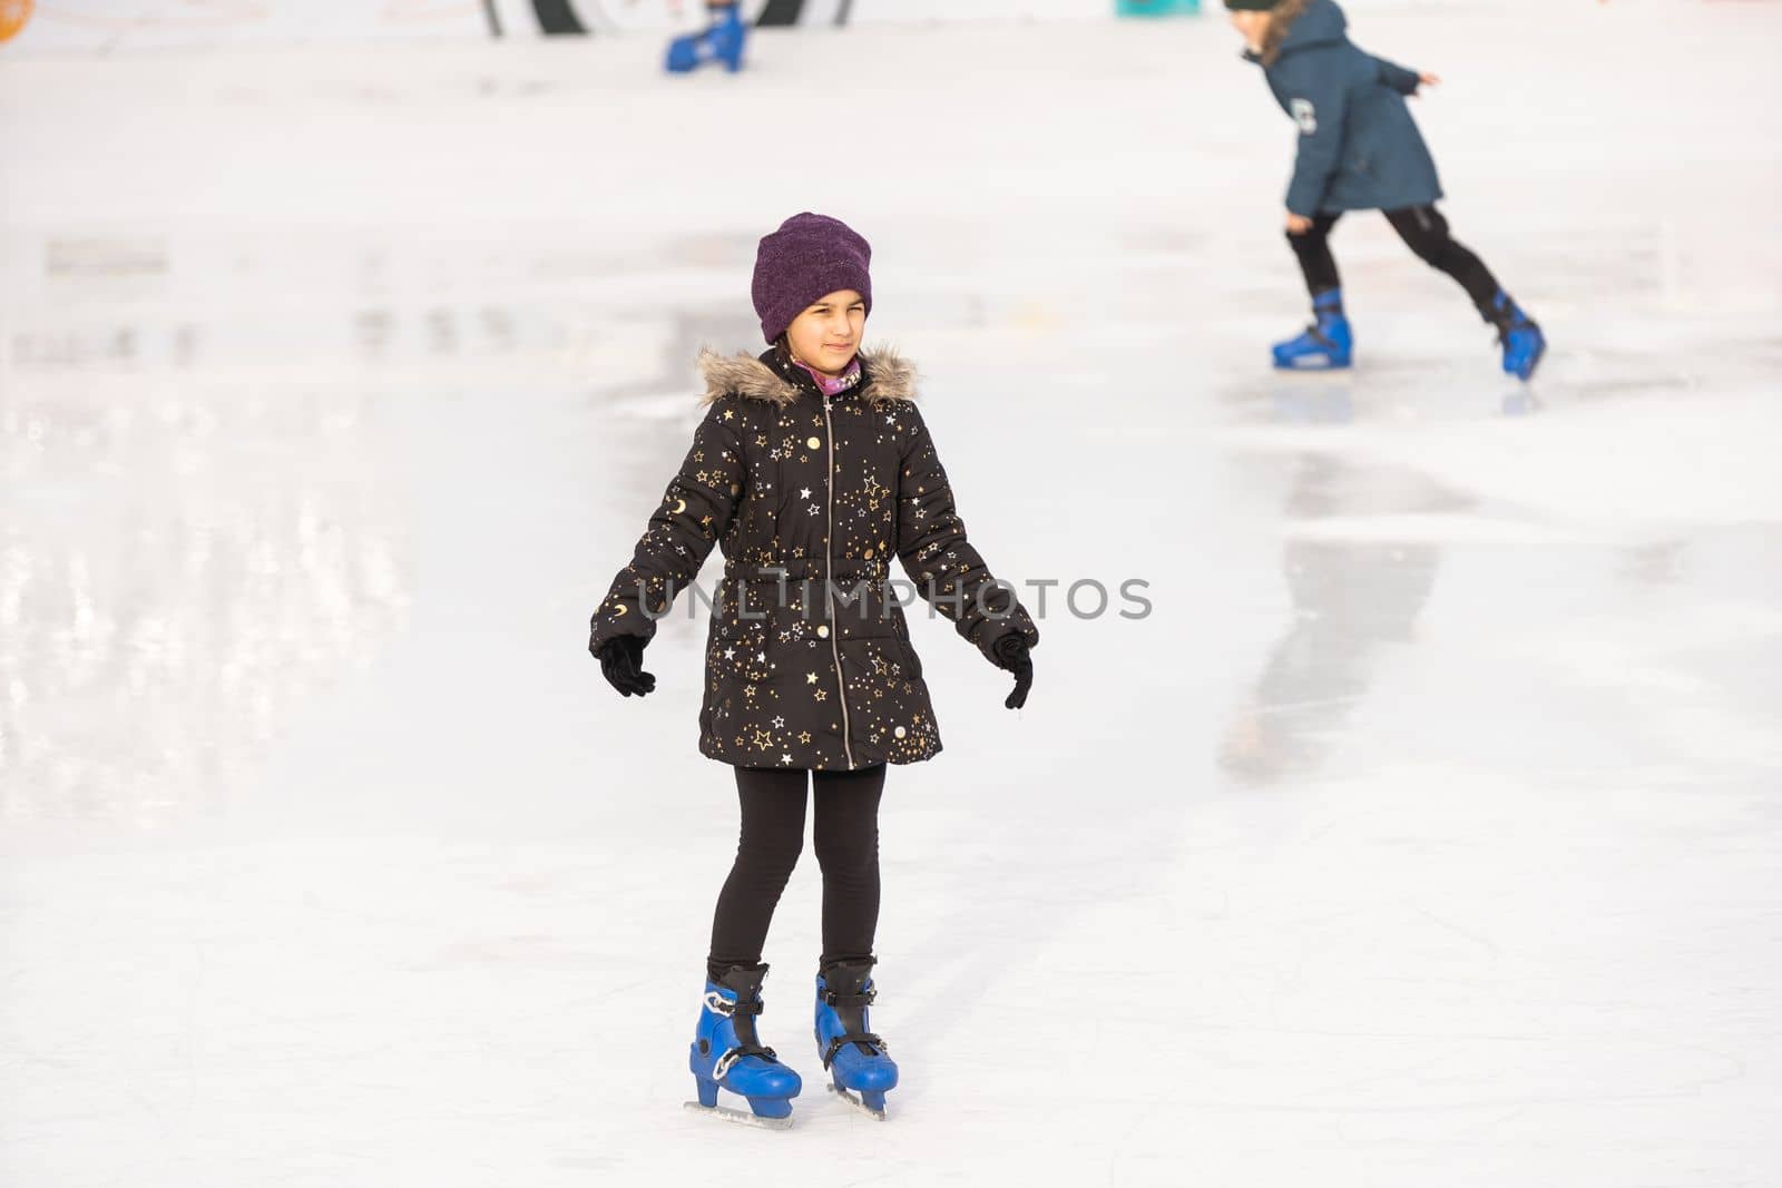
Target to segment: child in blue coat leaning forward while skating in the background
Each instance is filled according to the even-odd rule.
[[[1524,313],[1436,210],[1442,183],[1404,98],[1435,75],[1372,57],[1349,41],[1335,0],[1226,0],[1231,23],[1260,62],[1269,89],[1299,125],[1299,160],[1287,187],[1287,242],[1312,290],[1317,319],[1274,346],[1276,367],[1349,367],[1354,331],[1342,312],[1342,280],[1329,233],[1345,210],[1381,210],[1426,264],[1452,276],[1479,315],[1497,326],[1504,370],[1527,379],[1547,351]]]

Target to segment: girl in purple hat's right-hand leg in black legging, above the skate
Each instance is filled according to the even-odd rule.
[[[814,771],[816,823],[811,839],[823,867],[823,956],[871,958],[879,930],[879,798],[886,764],[857,771]]]

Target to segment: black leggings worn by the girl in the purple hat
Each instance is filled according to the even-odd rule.
[[[879,796],[886,764],[857,771],[736,768],[743,809],[736,864],[711,921],[713,978],[759,965],[768,924],[804,850],[805,787],[814,784],[811,839],[823,867],[823,955],[818,964],[873,955],[879,928]]]

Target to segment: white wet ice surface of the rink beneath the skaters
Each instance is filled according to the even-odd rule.
[[[1267,369],[1222,20],[0,61],[0,1184],[1782,1183],[1782,5],[1353,32],[1531,388],[1367,216],[1358,369]],[[797,210],[998,575],[1153,609],[1053,591],[1019,714],[911,611],[903,1085],[822,1092],[807,851],[757,1133],[681,1110],[704,623],[584,639]]]

